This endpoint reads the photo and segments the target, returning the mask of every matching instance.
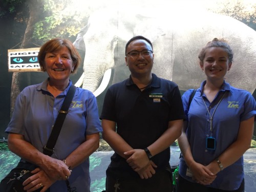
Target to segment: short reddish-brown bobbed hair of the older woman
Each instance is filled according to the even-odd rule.
[[[68,48],[74,63],[74,69],[71,73],[76,73],[76,70],[81,62],[81,56],[76,50],[76,48],[74,47],[74,45],[72,44],[72,42],[68,39],[63,39],[63,38],[51,39],[41,46],[40,51],[37,55],[41,71],[46,71],[46,68],[45,68],[46,54],[59,51],[63,47]]]

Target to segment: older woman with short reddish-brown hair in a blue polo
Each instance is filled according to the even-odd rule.
[[[40,68],[49,77],[17,97],[6,132],[9,148],[22,158],[20,162],[38,166],[23,183],[27,191],[67,191],[67,179],[72,191],[90,191],[89,156],[98,148],[102,131],[96,98],[90,91],[76,88],[53,155],[42,153],[72,86],[70,74],[76,72],[80,60],[71,41],[49,40],[38,54]]]

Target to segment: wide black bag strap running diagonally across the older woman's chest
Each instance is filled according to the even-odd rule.
[[[74,94],[76,92],[76,87],[72,84],[70,87],[67,96],[65,97],[61,109],[59,110],[59,114],[57,116],[57,119],[54,123],[52,133],[47,141],[46,146],[44,147],[44,154],[51,156],[54,153],[54,146],[56,144],[56,141],[58,139],[62,124],[64,122],[64,119],[68,113],[70,103],[74,97]]]

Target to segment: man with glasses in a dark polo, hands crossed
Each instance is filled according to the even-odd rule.
[[[184,117],[177,84],[152,73],[150,40],[130,39],[125,47],[129,79],[106,92],[103,133],[114,154],[106,170],[106,191],[172,191],[169,146],[181,135]]]

